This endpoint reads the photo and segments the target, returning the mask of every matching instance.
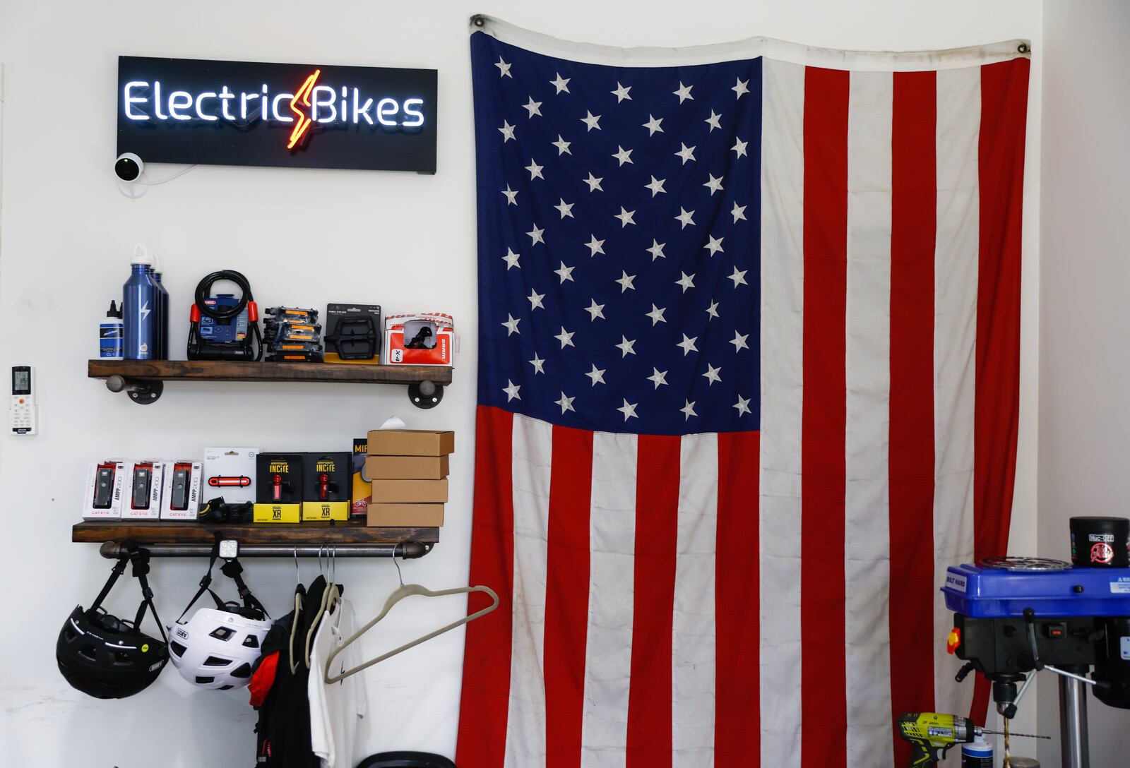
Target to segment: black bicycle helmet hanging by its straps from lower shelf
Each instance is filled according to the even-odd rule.
[[[132,622],[119,619],[102,608],[102,601],[131,560],[142,596]],[[157,609],[153,605],[153,591],[146,578],[148,573],[149,552],[130,547],[114,565],[94,604],[87,610],[78,605],[67,618],[55,644],[55,661],[72,688],[98,699],[123,699],[148,688],[165,667],[168,643]],[[157,621],[160,639],[140,630],[146,608]]]

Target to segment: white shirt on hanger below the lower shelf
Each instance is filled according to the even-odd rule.
[[[327,684],[325,660],[341,642],[354,634],[353,604],[342,599],[341,604],[322,618],[310,651],[310,743],[322,768],[353,768],[354,742],[357,721],[367,714],[365,679],[351,674],[345,680]],[[360,643],[338,654],[331,674],[362,662]]]

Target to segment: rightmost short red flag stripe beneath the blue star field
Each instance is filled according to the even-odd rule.
[[[760,765],[760,433],[718,436],[714,765]]]

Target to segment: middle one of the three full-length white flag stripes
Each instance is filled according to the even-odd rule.
[[[847,98],[844,655],[849,766],[890,749],[890,137],[894,79],[852,72]]]

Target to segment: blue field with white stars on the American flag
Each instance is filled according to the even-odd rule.
[[[760,59],[627,68],[471,40],[479,402],[758,428]]]

